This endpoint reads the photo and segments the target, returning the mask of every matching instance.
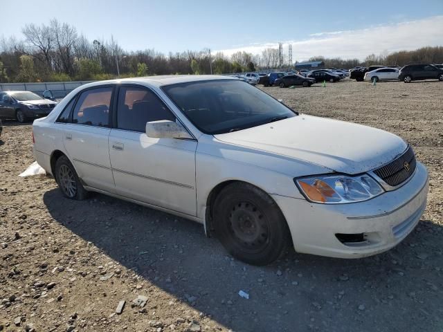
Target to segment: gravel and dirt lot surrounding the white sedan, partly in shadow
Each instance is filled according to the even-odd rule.
[[[17,177],[34,161],[31,126],[6,122],[0,331],[443,331],[443,83],[264,89],[302,113],[386,129],[415,147],[431,187],[403,243],[365,259],[289,252],[248,266],[192,221],[99,194],[71,201],[52,178]],[[143,308],[132,306],[138,295]]]

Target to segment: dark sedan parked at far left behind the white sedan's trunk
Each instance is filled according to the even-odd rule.
[[[0,92],[0,118],[17,119],[23,123],[47,116],[56,104],[30,91]]]

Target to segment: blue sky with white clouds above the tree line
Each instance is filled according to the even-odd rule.
[[[89,39],[125,50],[203,50],[257,54],[292,44],[293,61],[443,46],[443,0],[0,0],[0,37],[22,39],[30,23],[52,18]],[[11,15],[6,15],[11,13]]]

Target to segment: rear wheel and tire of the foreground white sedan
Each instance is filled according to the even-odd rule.
[[[82,201],[88,196],[87,190],[84,189],[77,172],[66,156],[61,156],[55,163],[55,181],[68,199]]]

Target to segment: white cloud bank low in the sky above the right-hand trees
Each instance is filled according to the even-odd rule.
[[[363,60],[372,53],[379,55],[398,50],[414,50],[423,46],[441,46],[443,44],[443,16],[359,30],[314,33],[309,35],[309,39],[284,42],[284,54],[288,53],[289,44],[292,44],[294,62],[316,55]],[[232,55],[239,50],[260,54],[262,50],[269,47],[278,48],[278,43],[254,43],[218,51],[225,55]]]

